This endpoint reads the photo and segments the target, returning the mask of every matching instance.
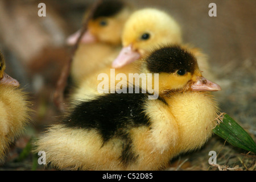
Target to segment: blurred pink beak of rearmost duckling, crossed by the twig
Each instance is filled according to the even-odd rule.
[[[81,35],[81,30],[79,30],[79,31],[75,32],[74,34],[72,34],[71,36],[69,36],[69,37],[67,38],[67,44],[68,44],[69,46],[75,45],[76,42],[77,42],[77,40],[79,39],[79,36],[80,36],[80,35]],[[89,30],[87,30],[87,31],[85,32],[85,34],[82,35],[82,38],[81,38],[80,42],[81,42],[81,43],[93,43],[93,42],[96,42],[96,38],[95,38],[94,35],[92,35],[92,34],[90,33]]]

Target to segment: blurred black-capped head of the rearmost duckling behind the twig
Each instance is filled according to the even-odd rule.
[[[121,44],[123,26],[131,14],[132,7],[122,1],[102,1],[88,22],[88,30],[81,38],[81,43],[104,42],[113,45]],[[85,14],[84,19],[88,16]],[[75,44],[81,30],[69,36],[67,43]]]

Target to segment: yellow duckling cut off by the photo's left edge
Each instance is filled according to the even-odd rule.
[[[27,95],[18,88],[19,82],[7,75],[0,53],[0,160],[5,158],[9,145],[22,133],[29,121]]]

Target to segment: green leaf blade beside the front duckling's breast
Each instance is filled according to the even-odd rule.
[[[256,154],[256,144],[251,136],[228,114],[213,129],[213,133],[225,139],[234,147],[239,147]]]

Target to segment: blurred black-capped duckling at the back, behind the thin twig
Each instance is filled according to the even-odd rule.
[[[88,23],[88,31],[72,61],[71,78],[79,82],[82,77],[111,63],[121,49],[121,32],[133,7],[123,1],[103,1]],[[75,44],[80,31],[68,38]]]

